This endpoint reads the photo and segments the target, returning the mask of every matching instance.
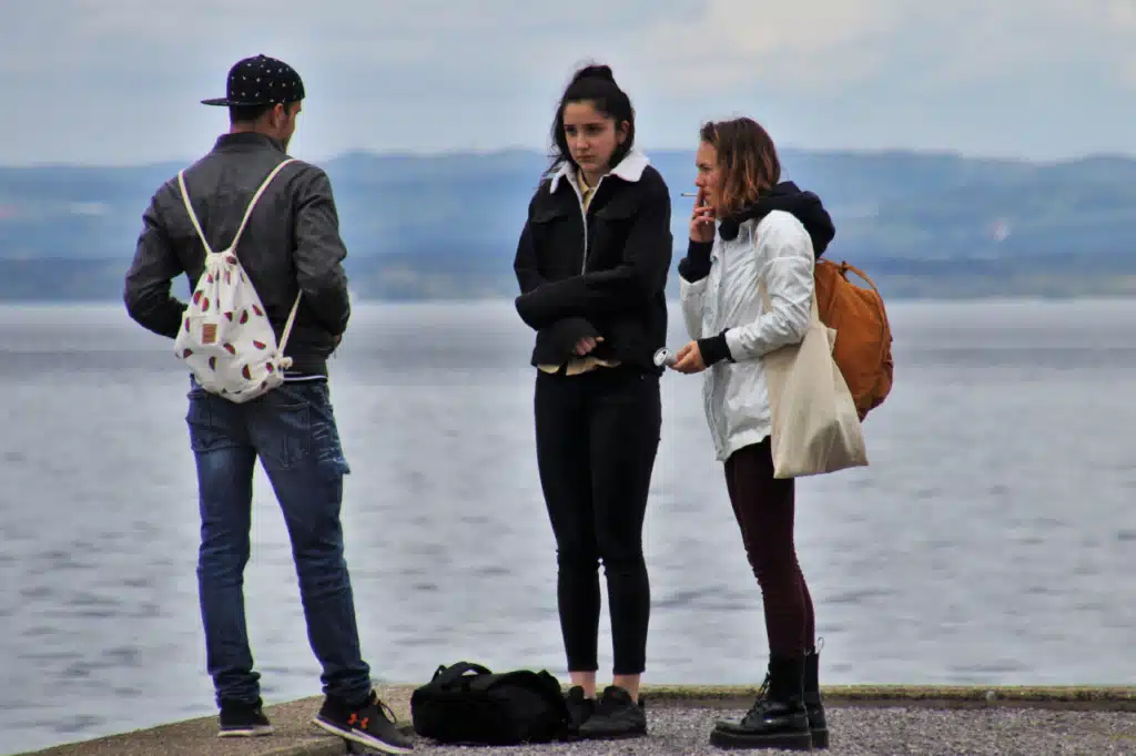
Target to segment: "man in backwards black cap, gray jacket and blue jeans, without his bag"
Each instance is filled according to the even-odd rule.
[[[303,96],[292,67],[257,56],[233,66],[225,98],[202,101],[227,107],[231,121],[229,132],[185,171],[193,211],[214,250],[232,244],[252,195],[287,159]],[[192,292],[204,269],[204,249],[176,179],[154,193],[142,220],[126,274],[126,309],[143,327],[175,338],[185,304],[170,294],[172,282],[184,274]],[[351,308],[342,266],[346,249],[327,175],[299,160],[285,166],[256,204],[236,254],[277,339],[298,294],[300,304],[285,350],[292,368],[281,387],[239,404],[191,377],[186,421],[201,511],[198,586],[219,734],[273,731],[261,709],[242,588],[259,459],[284,513],[308,638],[323,665],[326,699],[314,722],[382,753],[410,753],[411,741],[375,694],[362,660],[343,557],[340,505],[349,468],[328,395],[327,359]]]

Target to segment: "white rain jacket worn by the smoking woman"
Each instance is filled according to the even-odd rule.
[[[720,225],[720,221],[717,225]],[[741,224],[726,241],[715,233],[710,275],[680,279],[683,318],[692,339],[726,330],[733,361],[703,373],[707,422],[719,461],[769,435],[769,390],[761,356],[804,338],[812,310],[812,240],[796,217],[772,210]],[[770,312],[758,282],[769,292]]]

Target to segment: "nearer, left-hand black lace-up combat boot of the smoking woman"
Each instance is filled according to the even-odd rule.
[[[758,699],[741,721],[720,720],[710,733],[718,748],[812,750],[804,708],[804,656],[774,656]]]

